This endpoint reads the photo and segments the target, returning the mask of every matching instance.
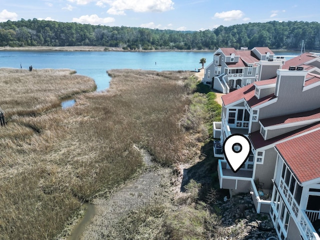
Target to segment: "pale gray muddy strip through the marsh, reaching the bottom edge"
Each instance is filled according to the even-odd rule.
[[[105,239],[113,222],[130,210],[148,203],[155,195],[168,189],[170,168],[154,165],[151,156],[144,152],[144,162],[150,168],[138,178],[126,183],[110,198],[97,198],[93,201],[95,215],[85,227],[80,239]]]

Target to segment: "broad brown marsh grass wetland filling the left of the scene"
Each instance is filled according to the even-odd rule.
[[[189,109],[190,72],[112,70],[106,92],[78,95],[63,110],[57,100],[94,89],[91,79],[70,70],[1,71],[1,239],[63,237],[82,202],[141,169],[135,146],[172,165],[197,157],[207,138],[196,116],[203,113]]]

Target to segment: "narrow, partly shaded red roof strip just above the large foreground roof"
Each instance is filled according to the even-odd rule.
[[[293,131],[290,131],[290,132],[287,132],[287,133],[272,137],[272,138],[267,139],[267,140],[263,139],[263,137],[262,137],[262,135],[260,134],[259,131],[254,131],[254,132],[251,132],[249,134],[249,139],[251,140],[251,143],[252,143],[254,149],[258,149],[260,147],[267,146],[267,145],[273,144],[273,143],[275,143],[277,141],[285,140],[287,138],[290,138],[290,137],[293,137],[293,136],[297,136],[297,135],[299,135],[301,133],[305,133],[305,132],[308,132],[310,130],[314,130],[314,129],[317,129],[317,128],[320,129],[320,122],[316,122],[316,123],[313,123],[313,124],[298,128],[296,130],[293,130]]]

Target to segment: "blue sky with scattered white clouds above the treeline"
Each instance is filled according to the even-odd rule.
[[[0,21],[47,19],[174,30],[319,21],[320,0],[0,0]]]

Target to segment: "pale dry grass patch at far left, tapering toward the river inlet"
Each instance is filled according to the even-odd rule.
[[[6,117],[40,113],[60,99],[96,88],[93,79],[70,69],[0,68],[0,107]]]

